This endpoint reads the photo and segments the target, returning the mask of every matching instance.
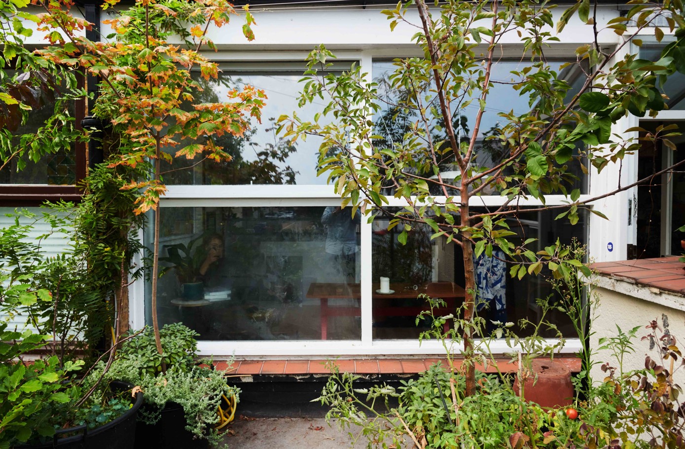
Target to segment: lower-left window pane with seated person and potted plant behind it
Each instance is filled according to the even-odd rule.
[[[160,214],[160,323],[182,321],[202,340],[361,338],[359,215],[349,208]]]

